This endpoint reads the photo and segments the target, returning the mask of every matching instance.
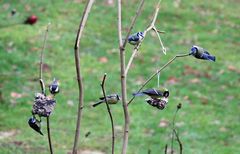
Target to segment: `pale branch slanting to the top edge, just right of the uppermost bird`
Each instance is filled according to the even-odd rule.
[[[154,25],[155,25],[155,22],[156,22],[156,19],[157,19],[157,15],[158,15],[158,12],[159,12],[159,9],[160,9],[160,3],[161,3],[161,0],[159,0],[159,2],[158,2],[158,4],[157,4],[157,7],[156,7],[156,9],[155,9],[155,12],[154,12],[154,15],[153,15],[153,19],[152,19],[150,25],[149,25],[149,26],[147,27],[147,29],[144,30],[144,32],[143,32],[144,38],[146,37],[147,32],[150,31],[150,30],[152,30],[152,29],[155,27]],[[130,66],[131,66],[131,64],[132,64],[132,62],[133,62],[133,59],[134,59],[135,55],[137,54],[137,52],[138,52],[138,50],[139,50],[139,48],[140,48],[140,46],[141,46],[144,38],[143,38],[142,41],[133,49],[132,55],[131,55],[131,57],[130,57],[130,59],[129,59],[129,61],[128,61],[127,67],[126,67],[126,72],[125,72],[126,75],[128,74],[129,68],[130,68]],[[126,38],[126,39],[127,39],[127,38]],[[126,42],[126,39],[125,39],[125,42]]]

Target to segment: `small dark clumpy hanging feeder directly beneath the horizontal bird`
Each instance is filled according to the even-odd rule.
[[[168,98],[166,97],[154,98],[154,99],[151,98],[151,99],[146,99],[146,102],[153,107],[163,110],[168,103]]]

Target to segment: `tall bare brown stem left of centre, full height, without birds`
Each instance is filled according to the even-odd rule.
[[[77,153],[77,145],[78,145],[78,139],[79,139],[80,127],[81,127],[83,96],[84,96],[83,81],[82,81],[81,70],[80,70],[79,46],[80,46],[81,36],[82,36],[85,24],[88,19],[88,14],[91,11],[93,2],[94,2],[94,0],[89,0],[85,6],[83,16],[82,16],[80,24],[79,24],[76,42],[75,42],[75,46],[74,46],[75,64],[76,64],[77,81],[78,81],[78,89],[79,89],[79,104],[78,104],[78,116],[77,116],[77,122],[76,122],[74,145],[73,145],[73,149],[72,149],[73,154]]]

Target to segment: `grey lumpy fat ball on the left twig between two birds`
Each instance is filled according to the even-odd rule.
[[[52,113],[56,101],[53,98],[45,96],[42,93],[36,93],[32,107],[32,113],[40,117],[48,117]]]

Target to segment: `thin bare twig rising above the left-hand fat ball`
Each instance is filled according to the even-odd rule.
[[[39,82],[40,82],[42,93],[44,95],[45,95],[45,84],[44,84],[43,77],[42,77],[42,72],[43,72],[43,52],[44,52],[44,50],[46,48],[46,42],[47,42],[49,26],[50,26],[50,23],[48,23],[47,28],[46,28],[46,32],[45,32],[45,35],[44,35],[43,46],[42,46],[42,50],[41,50],[41,54],[40,54],[40,63],[39,63],[39,67],[40,67],[39,68]]]

